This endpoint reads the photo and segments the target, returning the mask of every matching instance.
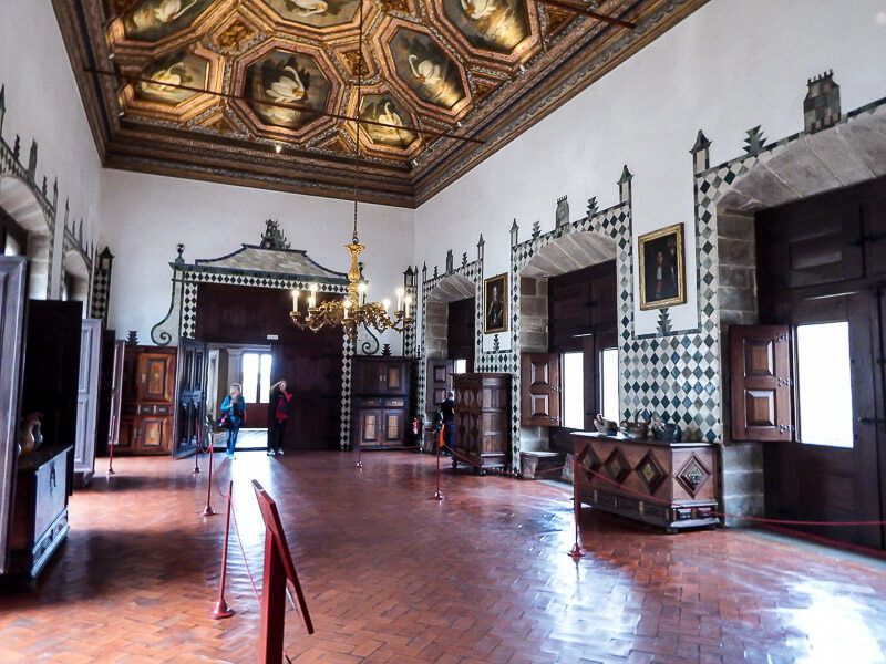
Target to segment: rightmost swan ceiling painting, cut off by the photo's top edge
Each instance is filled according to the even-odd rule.
[[[532,33],[526,0],[443,0],[443,11],[478,49],[507,54]]]

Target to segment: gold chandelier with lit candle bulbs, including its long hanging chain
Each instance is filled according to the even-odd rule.
[[[328,300],[317,304],[317,291],[319,287],[317,283],[311,283],[308,287],[308,305],[307,311],[302,315],[299,307],[301,293],[298,290],[292,291],[292,312],[289,318],[292,324],[303,330],[317,332],[323,328],[341,325],[344,334],[350,339],[357,338],[360,328],[373,328],[378,332],[385,330],[394,330],[396,332],[405,332],[412,326],[412,294],[404,288],[396,289],[396,309],[393,314],[390,313],[391,301],[383,300],[380,302],[367,302],[367,282],[363,280],[362,269],[360,264],[360,253],[362,253],[365,246],[360,243],[357,235],[357,183],[359,181],[360,174],[360,111],[362,106],[362,45],[363,45],[363,3],[360,3],[360,62],[358,63],[358,79],[357,79],[357,139],[354,143],[354,185],[353,185],[353,234],[351,242],[344,245],[351,259],[351,266],[348,269],[348,292],[341,300]],[[410,268],[404,276],[408,281],[411,279]],[[413,283],[408,283],[412,287]]]

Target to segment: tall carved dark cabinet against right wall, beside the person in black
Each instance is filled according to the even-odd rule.
[[[455,452],[478,474],[511,461],[511,374],[455,374]],[[453,458],[453,467],[459,460]]]

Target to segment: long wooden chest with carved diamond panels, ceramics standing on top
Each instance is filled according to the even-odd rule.
[[[588,432],[573,439],[581,502],[669,532],[720,523],[719,446]]]

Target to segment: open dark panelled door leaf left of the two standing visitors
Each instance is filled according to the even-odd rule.
[[[178,390],[175,411],[175,447],[173,456],[194,452],[200,443],[206,417],[207,381],[206,343],[182,339],[178,343]]]

